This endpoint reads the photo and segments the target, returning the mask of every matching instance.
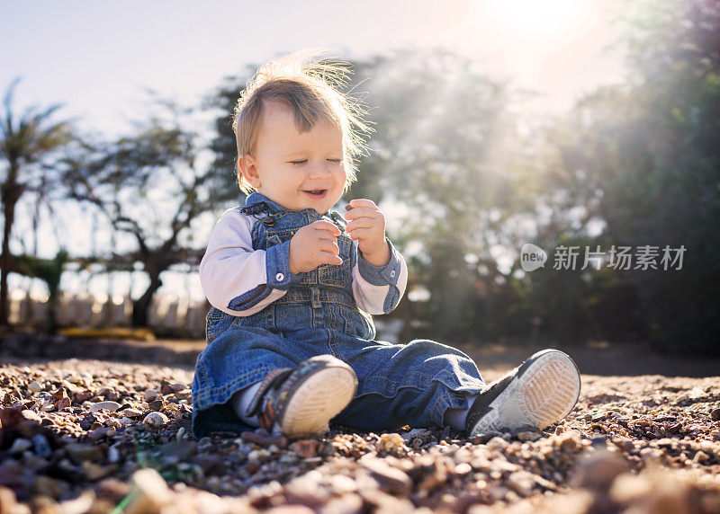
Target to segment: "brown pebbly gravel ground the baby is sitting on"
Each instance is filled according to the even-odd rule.
[[[194,439],[192,378],[5,351],[0,512],[720,512],[720,377],[583,375],[578,406],[541,433],[299,441]]]

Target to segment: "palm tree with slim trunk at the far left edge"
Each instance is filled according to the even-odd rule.
[[[70,140],[68,121],[54,122],[52,118],[60,105],[47,108],[30,107],[20,116],[13,109],[16,78],[7,88],[3,110],[0,111],[0,199],[4,217],[3,250],[0,253],[0,326],[8,323],[7,276],[11,269],[10,235],[13,231],[15,206],[28,191],[36,191],[35,182],[44,171],[38,164],[59,146]]]

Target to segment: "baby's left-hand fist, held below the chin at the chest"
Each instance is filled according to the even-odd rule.
[[[338,235],[340,229],[322,219],[300,228],[290,240],[290,270],[297,274],[320,264],[342,264]]]

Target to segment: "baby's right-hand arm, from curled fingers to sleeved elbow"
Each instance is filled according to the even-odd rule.
[[[355,240],[353,296],[371,315],[388,314],[398,305],[408,282],[408,265],[385,237],[385,217],[372,200],[353,199],[346,230]]]

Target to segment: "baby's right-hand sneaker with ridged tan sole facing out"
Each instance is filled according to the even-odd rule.
[[[465,419],[469,437],[489,431],[542,430],[567,416],[580,396],[580,371],[562,351],[542,350],[492,382]]]

